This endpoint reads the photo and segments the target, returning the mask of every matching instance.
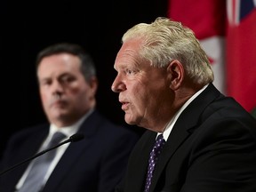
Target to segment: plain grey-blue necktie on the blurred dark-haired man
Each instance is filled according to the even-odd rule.
[[[55,132],[52,136],[52,140],[49,142],[46,148],[52,148],[63,140],[65,135],[61,132]],[[19,192],[37,192],[40,191],[43,185],[44,176],[52,163],[55,156],[56,150],[53,149],[44,154],[44,156],[39,156],[34,160],[30,172],[24,181],[24,184],[20,188]]]

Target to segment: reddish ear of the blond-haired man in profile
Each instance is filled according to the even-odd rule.
[[[171,77],[170,88],[173,91],[179,89],[185,75],[183,65],[180,63],[179,60],[172,60],[172,62],[167,67],[167,72]]]

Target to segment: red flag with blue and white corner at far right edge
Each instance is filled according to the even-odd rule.
[[[227,93],[256,107],[256,0],[227,0]]]

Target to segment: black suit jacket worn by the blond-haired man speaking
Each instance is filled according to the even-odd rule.
[[[116,191],[142,192],[156,132],[132,150]],[[210,84],[178,118],[160,154],[150,192],[256,192],[256,123]]]

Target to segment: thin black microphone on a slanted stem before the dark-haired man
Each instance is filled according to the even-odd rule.
[[[83,140],[83,139],[84,139],[84,134],[82,134],[82,133],[75,133],[75,134],[71,135],[71,136],[68,138],[68,140],[63,140],[63,141],[60,142],[58,145],[53,146],[52,148],[46,148],[46,149],[44,149],[43,151],[37,153],[36,155],[28,157],[27,159],[25,159],[24,161],[20,162],[19,164],[14,164],[12,167],[10,167],[10,168],[4,170],[3,172],[0,172],[0,176],[3,175],[5,172],[11,171],[12,169],[16,168],[17,166],[20,166],[20,164],[25,164],[25,163],[27,163],[28,161],[30,161],[30,160],[36,158],[37,156],[42,156],[44,153],[46,153],[46,152],[48,152],[48,151],[50,151],[50,150],[52,150],[52,149],[54,149],[54,148],[58,148],[58,147],[60,147],[61,145],[65,144],[65,143],[68,143],[68,142],[77,142],[77,141]]]

